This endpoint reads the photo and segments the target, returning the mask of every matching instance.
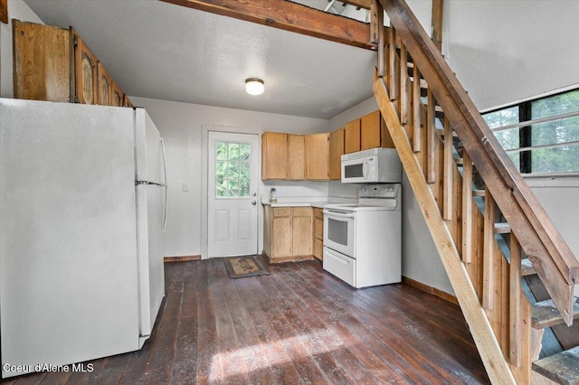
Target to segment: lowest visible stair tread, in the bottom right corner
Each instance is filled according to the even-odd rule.
[[[579,346],[533,362],[533,370],[560,384],[579,384]]]

